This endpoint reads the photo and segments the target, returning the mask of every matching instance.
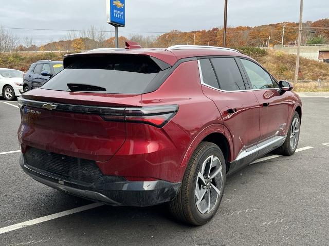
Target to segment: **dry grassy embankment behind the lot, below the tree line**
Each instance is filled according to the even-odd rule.
[[[294,80],[296,55],[285,54],[274,50],[264,50],[260,48],[242,47],[237,48],[242,53],[247,54],[254,59],[258,60],[273,76],[277,79]],[[27,70],[30,64],[36,60],[51,59],[63,60],[64,54],[45,53],[45,54],[17,54],[11,55],[0,54],[0,67],[14,68],[19,70]],[[310,60],[301,57],[300,59],[300,72],[299,80],[325,80],[329,81],[329,64],[319,63],[315,60]],[[296,90],[316,90],[319,91],[314,85],[314,88],[307,89],[305,86],[295,85]],[[326,85],[322,91],[329,91],[329,85]]]

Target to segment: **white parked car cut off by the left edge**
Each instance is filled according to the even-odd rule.
[[[23,72],[0,68],[0,92],[6,100],[14,100],[23,93]]]

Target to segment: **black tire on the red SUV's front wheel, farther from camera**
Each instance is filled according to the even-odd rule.
[[[293,135],[293,131],[291,131],[291,127],[293,126],[294,121],[297,119],[298,121],[298,134],[296,137],[296,133],[294,133],[295,137],[296,137],[296,145],[295,146],[291,146],[290,144],[290,139],[294,136]],[[296,121],[295,121],[296,122]],[[300,118],[299,118],[299,114],[295,111],[294,115],[293,115],[293,119],[291,119],[290,125],[289,125],[289,129],[287,130],[287,137],[286,140],[284,141],[283,145],[280,146],[278,149],[276,149],[274,152],[276,154],[279,155],[293,155],[297,149],[298,146],[298,141],[299,141],[299,129],[300,129]]]

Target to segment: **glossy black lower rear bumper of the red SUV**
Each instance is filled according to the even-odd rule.
[[[70,180],[62,180],[28,166],[23,154],[20,165],[25,173],[36,181],[49,187],[83,197],[93,201],[101,201],[113,206],[147,207],[167,202],[175,198],[180,183],[164,180],[127,181],[117,176],[102,176],[90,186]]]

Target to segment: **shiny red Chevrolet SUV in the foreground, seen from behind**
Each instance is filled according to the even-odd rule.
[[[228,174],[298,145],[302,103],[239,51],[206,46],[98,49],[19,98],[23,170],[114,206],[168,202],[200,225]]]

